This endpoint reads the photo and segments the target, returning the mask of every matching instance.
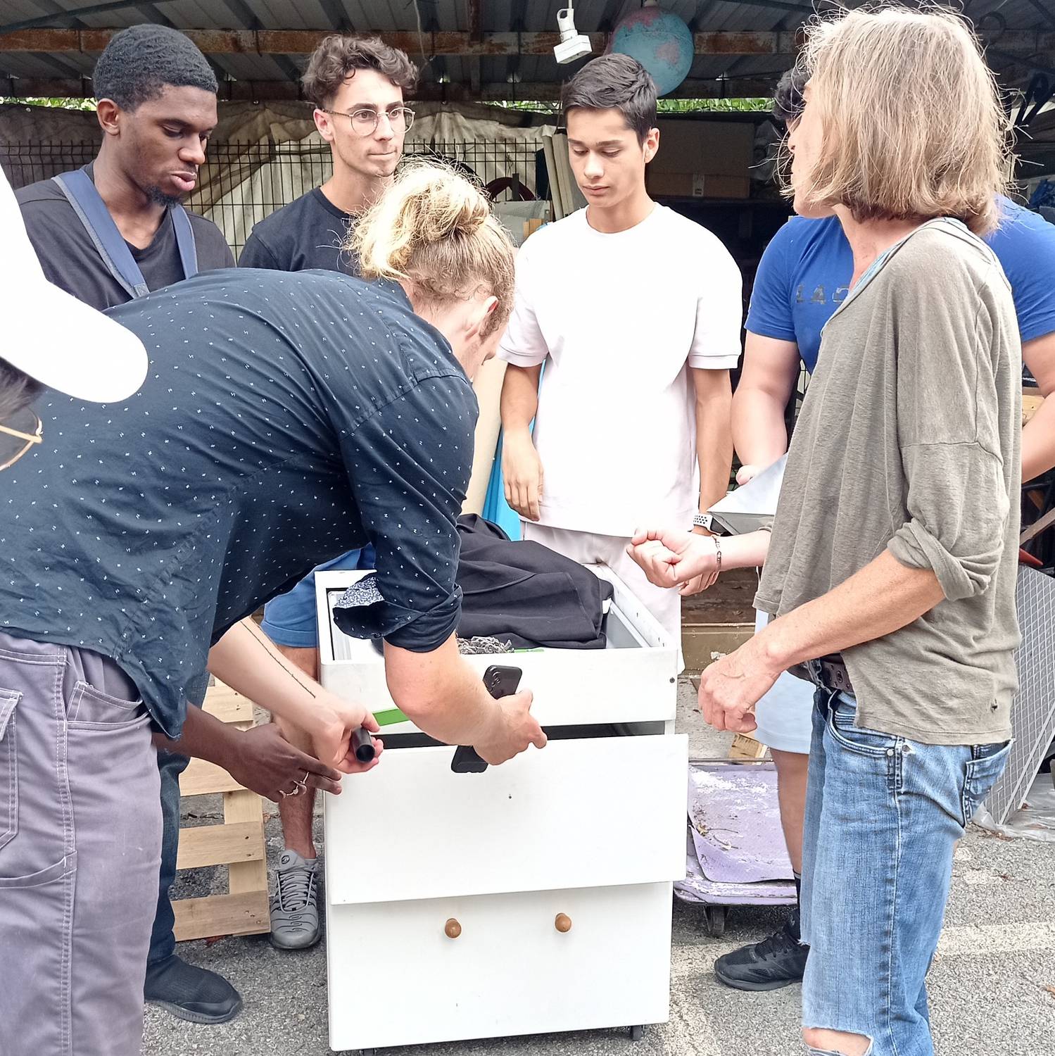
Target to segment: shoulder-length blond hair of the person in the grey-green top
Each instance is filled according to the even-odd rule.
[[[962,18],[847,12],[807,31],[799,61],[824,130],[807,197],[845,205],[859,221],[956,216],[980,234],[996,227],[995,197],[1012,173],[1010,122]]]

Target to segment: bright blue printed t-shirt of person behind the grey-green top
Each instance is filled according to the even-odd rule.
[[[1055,331],[1055,225],[1001,197],[1000,226],[985,241],[1011,283],[1023,343]],[[821,331],[849,293],[853,253],[836,216],[792,216],[758,264],[747,329],[794,341],[808,371]]]

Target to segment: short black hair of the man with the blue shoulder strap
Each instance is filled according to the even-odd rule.
[[[216,75],[191,39],[167,25],[133,25],[114,34],[95,63],[96,99],[135,110],[167,87],[218,90]]]

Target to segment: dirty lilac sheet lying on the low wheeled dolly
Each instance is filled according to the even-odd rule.
[[[772,762],[690,763],[689,829],[705,882],[739,886],[793,879]]]

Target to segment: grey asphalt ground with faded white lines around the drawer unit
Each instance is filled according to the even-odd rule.
[[[679,728],[694,756],[724,755],[728,739],[693,714],[687,681]],[[219,805],[185,804],[195,821],[219,819]],[[211,812],[215,811],[214,814]],[[277,817],[267,825],[271,857],[281,847]],[[176,897],[222,890],[207,870],[182,873]],[[719,984],[715,957],[769,935],[772,909],[737,908],[726,935],[710,938],[702,911],[675,901],[670,1022],[645,1029],[632,1044],[625,1031],[591,1031],[388,1050],[385,1056],[790,1056],[798,1043],[799,987],[745,994]],[[233,1022],[196,1026],[148,1008],[146,1056],[327,1056],[323,945],[280,954],[266,936],[184,943],[181,956],[227,977],[245,1008]],[[1005,841],[972,828],[956,852],[945,931],[930,973],[939,1054],[1041,1056],[1055,1051],[1055,844]],[[383,1013],[382,1013],[383,1014]]]

